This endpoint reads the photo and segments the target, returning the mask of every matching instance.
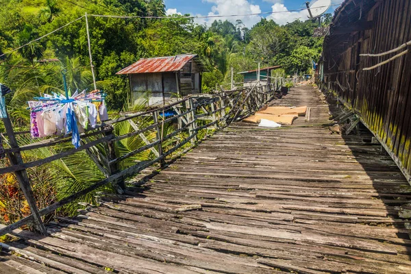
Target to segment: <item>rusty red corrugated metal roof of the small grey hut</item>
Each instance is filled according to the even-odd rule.
[[[142,58],[116,74],[163,73],[166,71],[179,71],[185,64],[187,64],[187,62],[192,60],[192,58],[197,58],[197,54]]]

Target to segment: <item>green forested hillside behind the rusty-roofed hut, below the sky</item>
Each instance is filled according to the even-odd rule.
[[[84,12],[130,16],[165,14],[162,0],[93,0],[76,3],[58,0],[0,0],[3,7],[0,10],[0,52],[25,45],[30,40],[83,16]],[[277,25],[274,21],[262,18],[251,29],[247,29],[242,21],[231,23],[219,20],[207,27],[197,25],[190,18],[179,15],[172,17],[162,20],[88,17],[97,84],[108,92],[110,109],[121,110],[129,93],[127,78],[115,73],[139,58],[197,53],[208,66],[208,71],[216,74],[204,73],[203,90],[207,91],[216,82],[229,82],[231,66],[238,73],[256,69],[257,63],[261,62],[262,66],[282,65],[288,74],[295,71],[306,73],[310,69],[307,60],[315,59],[321,52],[322,38],[312,37],[317,23],[310,20]],[[323,26],[328,25],[331,18],[330,14],[326,14]],[[45,73],[40,70],[14,69],[25,73],[21,82],[28,79],[27,83],[30,84],[25,85],[27,89],[33,88],[36,93],[51,87],[62,89],[58,71],[62,64],[67,64],[67,58],[75,60],[75,66],[83,69],[83,82],[76,80],[79,71],[76,75],[71,75],[74,77],[73,88],[92,88],[90,72],[84,70],[90,62],[84,18],[47,38],[30,43],[20,49],[18,55],[28,66],[45,66],[55,73],[55,79],[50,79],[45,78]],[[16,54],[8,55],[6,62],[10,64],[10,59],[15,58],[18,59]],[[58,58],[61,64],[37,64],[38,60],[45,58]],[[8,73],[8,69],[0,68],[0,73],[2,71]],[[33,85],[33,77],[44,83]],[[236,74],[235,81],[242,81],[242,76]],[[7,82],[13,90],[21,88],[20,81],[9,82],[1,74],[0,82]],[[46,86],[49,88],[45,88]]]

